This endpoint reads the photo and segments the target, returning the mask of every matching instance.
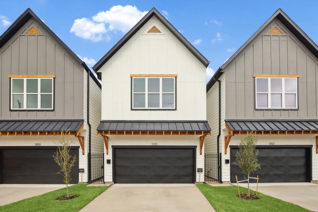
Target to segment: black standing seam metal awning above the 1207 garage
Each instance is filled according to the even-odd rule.
[[[318,131],[318,120],[225,120],[231,131]]]

